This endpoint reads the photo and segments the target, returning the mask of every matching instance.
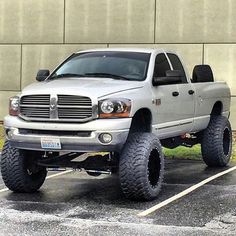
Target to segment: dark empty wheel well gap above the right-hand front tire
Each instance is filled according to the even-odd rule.
[[[148,108],[138,110],[133,118],[130,133],[151,132],[152,114]]]

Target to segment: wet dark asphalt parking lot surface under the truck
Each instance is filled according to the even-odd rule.
[[[223,170],[167,160],[162,191],[152,202],[125,199],[116,176],[66,172],[35,194],[7,191],[0,179],[0,235],[236,235],[236,171],[138,216]]]

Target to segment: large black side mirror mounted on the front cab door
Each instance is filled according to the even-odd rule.
[[[153,86],[179,84],[182,82],[183,72],[180,70],[167,70],[166,77],[154,77]]]

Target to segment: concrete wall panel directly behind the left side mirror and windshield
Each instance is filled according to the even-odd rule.
[[[22,52],[22,89],[35,81],[39,69],[52,71],[73,52],[97,47],[106,47],[106,45],[24,45]]]

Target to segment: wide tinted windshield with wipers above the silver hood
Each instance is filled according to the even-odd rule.
[[[150,53],[87,52],[74,54],[49,79],[60,77],[101,77],[145,80]]]

